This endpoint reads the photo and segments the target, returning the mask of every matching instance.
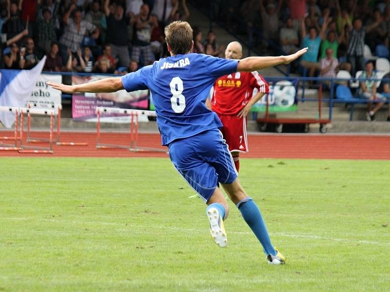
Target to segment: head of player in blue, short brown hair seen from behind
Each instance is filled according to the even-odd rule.
[[[192,28],[187,21],[174,21],[165,27],[165,41],[173,55],[187,54],[192,48]]]

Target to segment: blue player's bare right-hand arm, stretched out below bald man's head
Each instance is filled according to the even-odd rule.
[[[308,48],[303,48],[295,54],[277,57],[247,57],[238,62],[237,71],[255,71],[280,64],[288,64],[305,54]]]

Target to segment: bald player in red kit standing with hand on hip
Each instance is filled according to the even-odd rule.
[[[241,44],[231,42],[225,51],[226,59],[240,59],[242,56]],[[254,89],[257,93],[252,97]],[[240,152],[248,152],[247,115],[252,106],[269,87],[264,78],[254,72],[235,72],[219,77],[214,84],[214,91],[208,107],[215,111],[221,119],[221,132],[229,150],[232,153],[237,171],[240,168]]]

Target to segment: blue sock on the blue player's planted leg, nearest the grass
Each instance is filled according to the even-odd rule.
[[[267,227],[260,210],[252,198],[247,197],[237,203],[237,208],[240,210],[242,218],[251,227],[254,235],[263,246],[266,255],[276,256],[276,251],[271,244],[270,236],[268,235]]]

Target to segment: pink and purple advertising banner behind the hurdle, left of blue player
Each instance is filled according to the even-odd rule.
[[[111,76],[72,76],[72,85],[93,82]],[[149,90],[127,92],[120,90],[109,93],[74,93],[72,97],[72,117],[77,121],[96,122],[96,107],[149,110]],[[147,117],[139,121],[147,121]],[[130,116],[104,114],[101,122],[129,123]]]

